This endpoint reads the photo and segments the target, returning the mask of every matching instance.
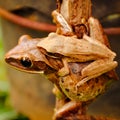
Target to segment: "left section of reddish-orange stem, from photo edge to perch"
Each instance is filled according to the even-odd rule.
[[[3,8],[0,8],[0,16],[2,16],[3,18],[16,23],[18,25],[27,27],[27,28],[31,28],[34,30],[40,30],[40,31],[47,31],[47,32],[52,32],[56,30],[56,26],[48,24],[48,23],[41,23],[41,22],[36,22],[36,21],[32,21],[20,16],[17,16],[15,14],[12,14],[6,10],[4,10]]]

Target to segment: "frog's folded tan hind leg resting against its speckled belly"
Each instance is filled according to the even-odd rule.
[[[96,78],[114,69],[116,66],[116,61],[110,61],[108,59],[100,59],[92,62],[81,71],[83,79],[77,83],[76,87],[83,85],[85,82],[89,81],[92,78]]]

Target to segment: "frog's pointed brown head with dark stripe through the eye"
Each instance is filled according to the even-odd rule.
[[[37,43],[40,40],[23,35],[20,37],[18,45],[5,55],[5,61],[21,71],[30,73],[44,71],[49,62],[37,48]]]

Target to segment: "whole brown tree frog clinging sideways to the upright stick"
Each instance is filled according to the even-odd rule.
[[[64,22],[61,27],[66,25]],[[55,72],[58,79],[51,81],[57,84],[68,98],[79,101],[93,99],[101,93],[104,86],[101,85],[100,88],[94,86],[94,89],[82,86],[91,79],[113,70],[117,62],[114,61],[116,54],[104,45],[104,35],[98,20],[90,17],[88,23],[90,36],[84,34],[82,39],[78,39],[74,33],[67,34],[68,36],[50,33],[48,37],[42,39],[22,36],[18,45],[6,54],[5,60],[12,66],[31,73],[39,73],[48,68],[55,69],[58,71]],[[67,33],[72,32],[70,27],[66,30]],[[71,75],[69,67],[69,63],[76,62],[78,64],[89,62],[81,69],[79,79]]]

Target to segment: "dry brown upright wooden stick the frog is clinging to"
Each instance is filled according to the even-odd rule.
[[[90,34],[88,18],[91,16],[91,1],[90,0],[57,0],[58,11],[64,16],[66,21],[72,26],[74,34],[78,36],[78,38],[82,38],[83,34]],[[67,8],[65,8],[67,7]],[[85,24],[82,24],[82,18],[85,18]],[[101,27],[101,31],[103,29]],[[104,34],[104,32],[103,32]],[[104,41],[102,41],[106,46],[109,46],[109,42],[107,40],[106,35],[104,35]],[[87,63],[89,64],[89,63]],[[86,63],[68,63],[70,69],[70,76],[75,79],[80,78],[81,70],[87,65]],[[77,66],[77,67],[76,67]],[[109,79],[117,79],[115,71],[110,71],[98,78],[91,79],[89,83],[86,83],[84,87],[81,89],[84,91],[87,87],[91,89],[96,89],[100,86],[105,85]],[[91,86],[91,87],[90,87]],[[93,89],[92,89],[93,87]],[[90,90],[89,89],[89,90]],[[61,98],[56,100],[56,113],[54,116],[55,120],[114,120],[105,117],[95,117],[89,116],[86,114],[86,108],[91,103],[88,102],[76,102],[73,107],[70,107],[67,110],[61,111],[60,109],[69,104],[71,101],[68,98]]]

